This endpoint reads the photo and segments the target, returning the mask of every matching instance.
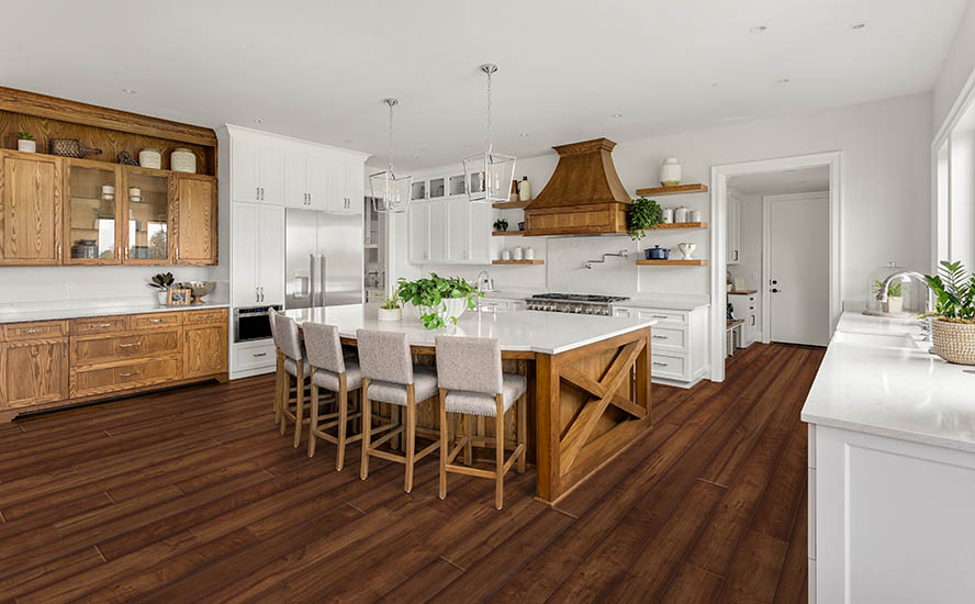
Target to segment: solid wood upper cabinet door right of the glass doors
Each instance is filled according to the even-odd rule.
[[[176,179],[176,261],[216,264],[216,187],[209,177]]]

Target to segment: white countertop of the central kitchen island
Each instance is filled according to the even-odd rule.
[[[432,331],[424,328],[423,324],[406,310],[403,312],[402,321],[379,321],[376,317],[378,307],[378,304],[348,304],[295,309],[285,311],[284,314],[299,323],[336,325],[343,337],[356,337],[356,329],[405,332],[406,339],[412,346],[434,346],[434,338],[445,334],[491,337],[498,340],[502,350],[548,355],[558,355],[657,323],[645,318],[537,311],[500,311],[480,314],[467,311],[457,321],[456,328]]]

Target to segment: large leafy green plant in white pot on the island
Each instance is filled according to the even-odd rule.
[[[467,309],[474,309],[481,292],[461,277],[444,278],[432,272],[428,278],[407,281],[401,277],[396,295],[413,306],[416,317],[427,329],[456,325]]]

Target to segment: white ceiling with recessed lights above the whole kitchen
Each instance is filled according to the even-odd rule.
[[[374,165],[381,99],[399,97],[399,164],[417,169],[483,146],[481,63],[501,67],[495,148],[528,157],[930,90],[966,0],[8,4],[4,86],[330,143]]]

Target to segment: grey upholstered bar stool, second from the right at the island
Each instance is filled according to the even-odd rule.
[[[413,366],[406,334],[359,329],[356,334],[359,363],[362,370],[362,469],[360,477],[369,476],[369,456],[406,465],[405,491],[413,491],[413,466],[440,446],[439,440],[416,450],[416,406],[433,401],[437,395],[437,374],[433,368]],[[372,402],[378,401],[406,410],[406,455],[379,450],[379,446],[403,433],[399,422],[372,428]],[[372,441],[373,433],[389,430]]]

